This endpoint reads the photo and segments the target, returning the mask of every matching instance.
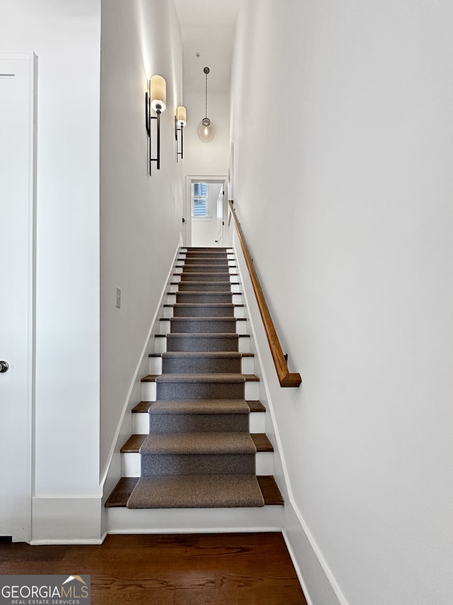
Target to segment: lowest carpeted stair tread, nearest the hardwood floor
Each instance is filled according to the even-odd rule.
[[[264,506],[255,475],[141,477],[127,501],[130,509]]]

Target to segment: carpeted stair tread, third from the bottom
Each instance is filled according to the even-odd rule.
[[[149,407],[151,414],[225,414],[250,412],[245,399],[163,399]]]

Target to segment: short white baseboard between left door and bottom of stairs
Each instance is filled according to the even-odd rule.
[[[101,496],[32,501],[30,544],[101,544]]]

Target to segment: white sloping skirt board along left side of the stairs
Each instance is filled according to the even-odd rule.
[[[115,439],[113,440],[112,448],[110,448],[108,462],[105,465],[105,468],[101,470],[100,489],[103,494],[101,506],[103,511],[103,534],[105,534],[107,531],[107,519],[105,515],[104,504],[105,501],[108,499],[108,496],[112,492],[113,488],[121,478],[122,463],[120,448],[122,446],[122,443],[124,443],[127,437],[132,433],[131,411],[132,408],[142,399],[141,379],[144,374],[148,373],[148,355],[149,353],[154,353],[154,339],[156,337],[156,334],[159,334],[159,318],[164,315],[164,304],[166,303],[166,296],[170,290],[170,284],[173,279],[173,272],[175,271],[175,267],[178,265],[178,257],[180,255],[180,251],[183,249],[181,246],[182,241],[179,241],[178,246],[175,250],[175,254],[173,255],[173,260],[171,262],[170,268],[168,270],[166,282],[162,287],[161,296],[159,298],[159,306],[156,307],[156,311],[154,312],[154,316],[151,320],[151,325],[149,326],[147,337],[144,340],[142,354],[140,355],[139,360],[137,362],[137,367],[135,368],[135,372],[130,383],[130,388],[127,392],[127,397],[125,399],[125,404],[122,409],[120,421],[118,422],[117,430],[115,432]]]

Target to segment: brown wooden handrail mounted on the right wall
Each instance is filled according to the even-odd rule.
[[[243,238],[243,233],[241,226],[239,225],[238,217],[236,216],[236,210],[233,206],[233,201],[229,200],[229,207],[231,209],[231,216],[234,218],[234,223],[236,224],[236,231],[239,235],[239,241],[241,242],[241,248],[246,259],[246,265],[248,268],[248,273],[250,274],[250,279],[253,285],[253,290],[255,292],[256,301],[258,302],[258,308],[260,309],[261,318],[263,319],[265,333],[268,337],[268,343],[270,346],[270,353],[272,353],[275,370],[277,370],[277,376],[280,382],[280,387],[299,387],[299,384],[302,382],[302,378],[298,373],[289,372],[287,362],[285,360],[285,355],[283,355],[282,347],[280,346],[280,341],[278,340],[277,332],[275,331],[275,326],[270,317],[270,312],[268,309],[268,305],[266,304],[263,290],[261,289],[260,282],[258,281],[258,276],[256,275],[255,267],[253,267],[253,262],[251,260],[250,253],[248,252],[246,240]]]

